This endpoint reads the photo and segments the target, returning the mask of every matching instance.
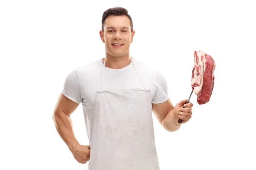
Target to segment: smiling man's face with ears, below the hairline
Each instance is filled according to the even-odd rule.
[[[109,16],[105,20],[104,32],[100,31],[106,53],[111,57],[129,55],[130,43],[135,31],[131,32],[130,20],[127,16]]]

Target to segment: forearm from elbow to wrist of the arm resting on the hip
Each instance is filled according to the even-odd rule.
[[[70,150],[73,150],[79,142],[76,140],[75,134],[72,128],[72,120],[70,116],[67,116],[63,111],[55,112],[52,116],[56,130],[61,136],[63,141],[67,144]]]

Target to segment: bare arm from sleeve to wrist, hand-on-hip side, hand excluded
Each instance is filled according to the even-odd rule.
[[[78,106],[78,103],[73,102],[61,93],[52,115],[52,119],[54,120],[59,135],[70,150],[73,150],[79,145],[79,142],[74,135],[72,121],[70,119],[71,113],[73,113]]]

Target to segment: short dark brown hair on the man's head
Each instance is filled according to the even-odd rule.
[[[132,23],[132,19],[131,16],[128,14],[127,9],[122,8],[122,7],[114,7],[114,8],[109,8],[107,9],[103,15],[102,15],[102,31],[104,32],[104,24],[105,24],[105,20],[108,16],[110,15],[115,15],[115,16],[121,16],[121,15],[126,15],[129,20],[130,20],[130,25],[131,25],[131,31],[133,31],[133,23]]]

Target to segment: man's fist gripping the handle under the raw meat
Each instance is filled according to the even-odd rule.
[[[191,118],[193,104],[191,102],[186,103],[186,101],[187,100],[182,100],[175,105],[173,114],[176,122],[181,119],[181,123],[186,123]]]

